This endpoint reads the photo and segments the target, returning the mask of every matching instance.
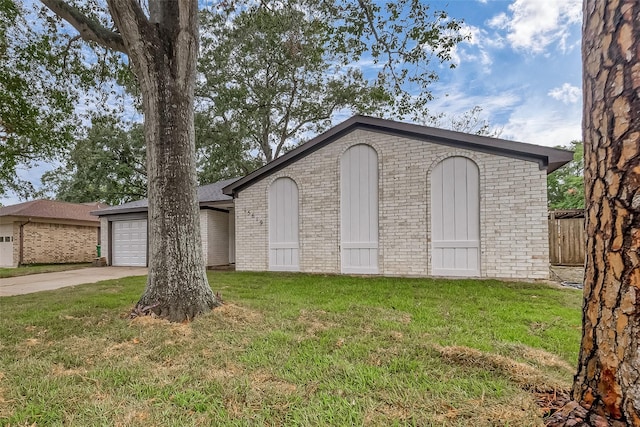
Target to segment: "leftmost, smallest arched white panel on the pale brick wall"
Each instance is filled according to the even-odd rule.
[[[298,186],[291,178],[269,187],[269,270],[300,271]]]

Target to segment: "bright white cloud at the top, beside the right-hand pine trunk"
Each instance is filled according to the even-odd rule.
[[[514,49],[542,53],[557,43],[562,51],[568,45],[571,26],[582,20],[582,0],[515,0],[509,14],[500,13],[487,24],[507,32],[507,40]]]

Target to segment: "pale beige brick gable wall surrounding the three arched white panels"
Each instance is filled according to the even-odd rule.
[[[537,163],[365,130],[343,136],[238,194],[238,270],[268,269],[268,188],[288,176],[300,195],[301,271],[340,272],[340,157],[355,144],[369,144],[378,152],[381,274],[430,274],[429,173],[455,155],[472,159],[480,170],[481,276],[547,277],[546,171]]]

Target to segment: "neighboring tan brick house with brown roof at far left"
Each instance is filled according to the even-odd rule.
[[[33,200],[0,207],[0,267],[90,262],[96,257],[97,203]]]

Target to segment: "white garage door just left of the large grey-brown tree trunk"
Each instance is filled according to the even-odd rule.
[[[147,220],[114,221],[111,264],[115,266],[147,265]]]

